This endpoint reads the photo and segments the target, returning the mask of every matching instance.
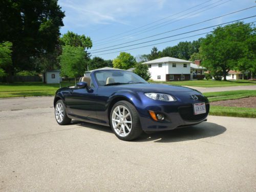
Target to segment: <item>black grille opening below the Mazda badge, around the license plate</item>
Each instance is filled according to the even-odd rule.
[[[202,119],[204,119],[208,113],[209,113],[209,109],[210,109],[210,105],[209,103],[205,104],[206,107],[206,113],[203,114],[199,114],[199,115],[194,115],[194,110],[193,110],[193,105],[189,105],[189,106],[181,106],[179,107],[179,114],[181,116],[181,118],[185,121],[200,121]]]

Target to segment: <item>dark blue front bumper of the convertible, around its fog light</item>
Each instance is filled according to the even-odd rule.
[[[199,102],[205,102],[206,113],[194,115],[193,104]],[[138,109],[141,127],[144,131],[165,131],[195,125],[207,120],[210,109],[209,101],[205,97],[201,97],[198,101],[187,100],[187,102],[177,101],[172,103],[159,101],[151,103],[154,103],[154,105],[146,103],[147,106],[144,109]],[[163,121],[155,121],[148,111],[161,113],[165,119]]]

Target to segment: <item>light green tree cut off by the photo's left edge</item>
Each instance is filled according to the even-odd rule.
[[[2,42],[0,43],[0,77],[6,76],[6,70],[12,67],[12,43]]]

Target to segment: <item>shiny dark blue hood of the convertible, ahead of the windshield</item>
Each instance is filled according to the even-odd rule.
[[[181,86],[170,86],[168,84],[152,84],[152,83],[138,83],[138,84],[121,84],[116,86],[123,89],[131,89],[142,92],[189,92],[195,91]]]

